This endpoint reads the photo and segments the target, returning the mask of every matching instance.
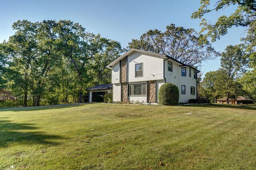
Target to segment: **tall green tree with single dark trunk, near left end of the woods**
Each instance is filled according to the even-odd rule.
[[[13,36],[10,36],[8,44],[10,46],[10,55],[12,64],[10,65],[10,74],[14,84],[20,87],[24,92],[24,106],[27,106],[28,90],[32,87],[33,64],[36,57],[40,55],[37,48],[37,29],[38,22],[32,23],[27,20],[18,20],[12,26],[16,30]]]

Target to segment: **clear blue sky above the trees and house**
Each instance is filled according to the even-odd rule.
[[[0,0],[0,42],[14,34],[12,24],[17,20],[72,20],[87,31],[117,40],[126,47],[132,38],[150,29],[164,31],[171,23],[200,31],[200,20],[190,18],[200,0]],[[234,7],[205,17],[215,21],[223,14],[234,12]],[[244,28],[232,28],[221,40],[212,43],[222,52],[227,45],[240,43]],[[217,70],[220,58],[204,62],[202,72]]]

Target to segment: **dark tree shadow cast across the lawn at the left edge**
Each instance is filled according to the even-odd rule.
[[[1,118],[2,119],[2,118]],[[10,146],[15,143],[19,144],[43,144],[58,145],[58,140],[64,140],[62,136],[49,135],[44,132],[35,132],[38,129],[34,124],[29,123],[12,123],[10,120],[0,119],[0,147]],[[26,130],[26,131],[25,131]],[[30,131],[31,130],[31,131]]]

